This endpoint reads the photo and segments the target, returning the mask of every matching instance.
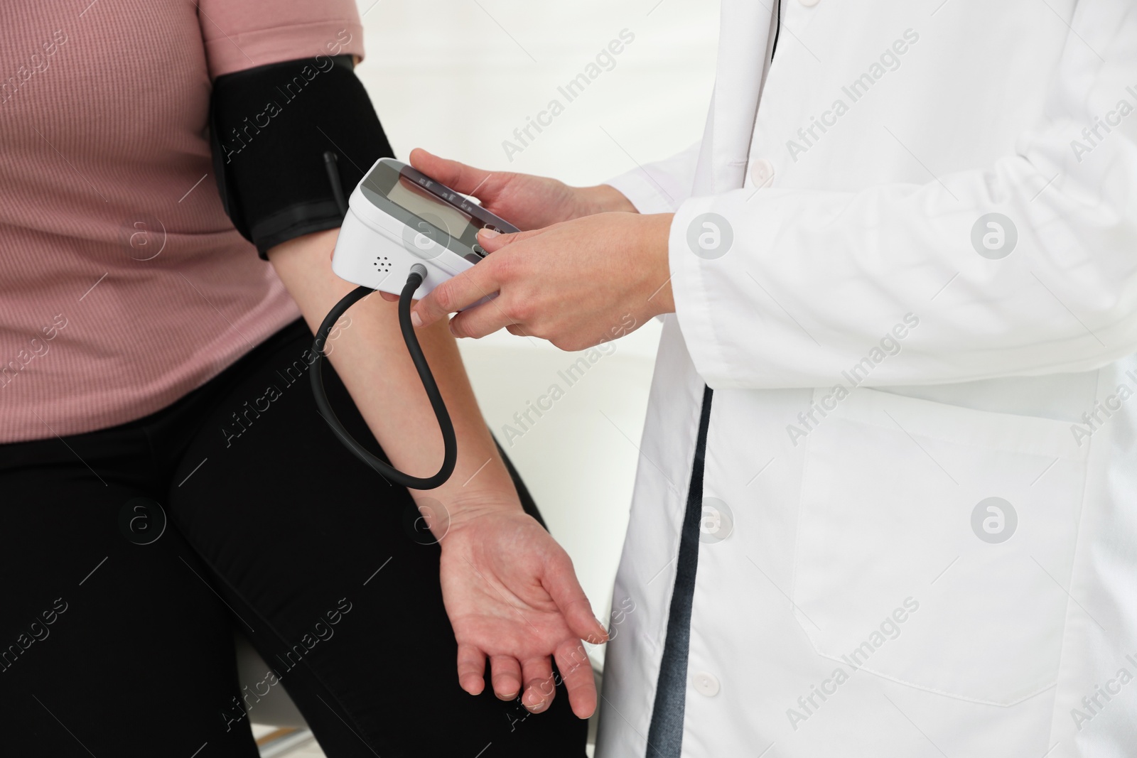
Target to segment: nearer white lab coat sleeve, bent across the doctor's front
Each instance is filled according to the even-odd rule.
[[[1104,31],[1097,52],[1070,36],[1046,117],[993,165],[926,184],[684,200],[669,241],[672,289],[703,378],[715,389],[832,386],[860,365],[866,385],[938,384],[1090,370],[1137,352],[1128,5],[1079,3],[1086,16],[1073,27]],[[1096,136],[1084,132],[1098,124]],[[706,226],[705,214],[721,219]],[[1016,232],[1004,258],[988,248],[999,226],[1004,245],[1012,228],[987,214]],[[732,242],[715,258],[698,240],[719,226]],[[725,248],[717,241],[713,252]]]

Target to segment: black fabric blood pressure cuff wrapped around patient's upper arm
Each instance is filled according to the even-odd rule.
[[[350,197],[393,157],[350,56],[316,56],[218,76],[209,103],[222,205],[260,257],[343,223]]]

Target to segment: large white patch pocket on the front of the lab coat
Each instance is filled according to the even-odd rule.
[[[806,439],[792,597],[816,652],[996,706],[1053,686],[1089,445],[864,388],[814,400],[836,407]]]

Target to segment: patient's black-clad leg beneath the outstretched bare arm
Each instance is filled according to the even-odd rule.
[[[408,492],[354,458],[317,414],[309,344],[293,341],[226,388],[169,494],[173,520],[273,668],[260,692],[280,682],[333,758],[583,756],[586,724],[563,688],[549,711],[526,717],[489,686],[479,697],[458,686],[439,547],[415,527]],[[324,374],[347,428],[377,451]]]

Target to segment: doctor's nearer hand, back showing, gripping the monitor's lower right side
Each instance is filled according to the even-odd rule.
[[[431,324],[498,292],[450,319],[450,332],[481,338],[505,327],[562,350],[623,336],[674,311],[672,216],[607,213],[517,234],[482,230],[478,240],[490,255],[420,300],[412,322]]]

